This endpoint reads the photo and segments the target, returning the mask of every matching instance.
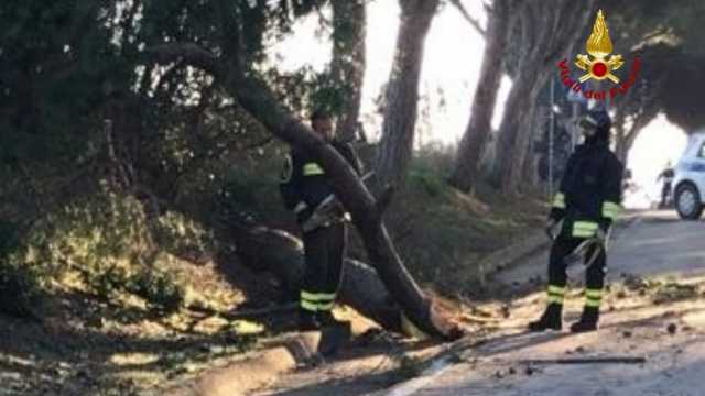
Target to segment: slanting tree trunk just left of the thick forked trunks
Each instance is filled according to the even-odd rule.
[[[451,185],[459,190],[473,189],[480,173],[482,151],[491,132],[492,114],[502,76],[502,54],[509,36],[512,1],[496,0],[489,15],[482,66],[468,121],[458,145]]]

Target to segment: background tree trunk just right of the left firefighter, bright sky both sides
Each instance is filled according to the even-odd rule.
[[[397,53],[386,91],[382,138],[377,154],[377,190],[403,185],[416,125],[423,48],[440,0],[400,0]]]

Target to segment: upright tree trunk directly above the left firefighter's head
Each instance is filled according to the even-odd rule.
[[[338,136],[355,140],[362,82],[365,80],[365,41],[367,13],[362,0],[333,0],[333,77],[344,87],[344,103],[338,122]]]

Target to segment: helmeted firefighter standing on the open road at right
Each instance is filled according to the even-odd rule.
[[[623,166],[609,150],[609,116],[604,110],[590,111],[581,120],[579,127],[584,143],[568,158],[546,224],[549,230],[553,230],[562,221],[551,249],[547,306],[543,316],[529,324],[531,331],[562,329],[567,283],[565,257],[586,239],[605,242],[620,210]],[[583,315],[578,322],[571,326],[572,332],[597,329],[607,257],[605,249],[599,245],[590,245],[586,260],[593,254],[596,254],[596,258],[585,272]]]

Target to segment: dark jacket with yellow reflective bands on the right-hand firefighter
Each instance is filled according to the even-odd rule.
[[[611,226],[621,210],[622,174],[623,165],[606,141],[576,147],[550,215],[564,220],[562,235],[590,238]]]

